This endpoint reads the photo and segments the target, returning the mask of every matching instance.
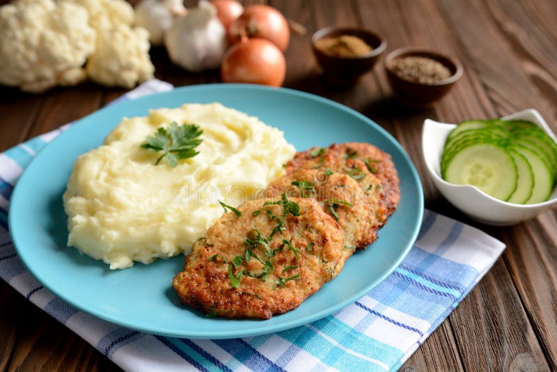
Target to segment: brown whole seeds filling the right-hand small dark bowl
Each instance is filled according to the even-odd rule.
[[[401,79],[421,84],[433,84],[450,77],[451,73],[443,64],[421,56],[408,56],[391,61],[389,69]]]

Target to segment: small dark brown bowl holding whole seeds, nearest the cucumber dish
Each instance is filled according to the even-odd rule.
[[[421,56],[433,59],[450,70],[450,77],[431,84],[411,82],[403,79],[391,70],[392,61],[408,56]],[[385,57],[385,70],[389,83],[397,98],[410,107],[429,107],[453,88],[455,82],[462,76],[462,64],[457,60],[437,52],[411,47],[396,49]]]

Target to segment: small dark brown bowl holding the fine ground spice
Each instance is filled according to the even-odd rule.
[[[330,56],[315,47],[315,42],[321,38],[336,38],[338,36],[357,36],[365,41],[372,51],[365,56],[350,58]],[[387,42],[376,33],[365,29],[350,27],[326,27],[316,31],[311,37],[311,46],[317,63],[330,82],[347,84],[356,81],[361,75],[373,68],[379,56],[385,51]]]

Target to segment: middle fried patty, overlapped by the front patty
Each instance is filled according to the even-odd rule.
[[[366,247],[372,243],[368,233],[372,223],[368,195],[354,178],[327,169],[299,169],[269,184],[265,196],[276,198],[315,198],[323,210],[333,217],[344,233],[346,247]]]

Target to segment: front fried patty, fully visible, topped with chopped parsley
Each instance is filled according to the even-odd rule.
[[[198,240],[173,286],[210,316],[271,318],[295,309],[342,270],[343,233],[313,198],[257,199]]]

